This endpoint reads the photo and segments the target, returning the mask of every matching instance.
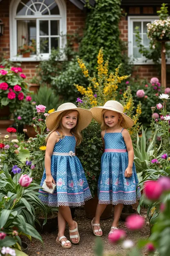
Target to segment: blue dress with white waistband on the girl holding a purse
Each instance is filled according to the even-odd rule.
[[[55,144],[54,152],[74,152],[75,147],[75,137],[65,136]],[[40,189],[38,196],[48,206],[81,206],[85,200],[92,198],[83,167],[76,156],[51,155],[51,175],[56,182],[56,190],[50,194]],[[44,170],[41,186],[45,178]]]

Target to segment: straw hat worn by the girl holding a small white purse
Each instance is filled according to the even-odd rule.
[[[73,103],[64,103],[58,107],[58,109],[46,118],[46,126],[49,130],[53,130],[56,126],[56,121],[62,112],[66,110],[77,110],[79,112],[78,130],[85,129],[92,121],[92,113],[84,108],[76,107]]]

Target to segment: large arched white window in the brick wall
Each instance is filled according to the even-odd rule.
[[[10,57],[32,61],[48,59],[52,48],[66,43],[65,0],[12,0],[10,4]],[[30,57],[18,50],[33,46]],[[25,47],[27,48],[27,47]]]

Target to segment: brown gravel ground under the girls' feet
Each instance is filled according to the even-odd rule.
[[[142,215],[146,218],[146,210],[143,210]],[[73,245],[70,249],[63,249],[56,244],[55,240],[57,237],[57,231],[52,233],[42,233],[42,239],[44,241],[44,246],[37,240],[33,239],[32,242],[28,242],[26,238],[25,242],[29,243],[29,256],[94,256],[94,245],[96,237],[92,233],[91,220],[87,219],[85,216],[85,210],[78,208],[75,210],[75,221],[78,223],[78,231],[80,234],[80,242],[78,245]],[[107,254],[112,251],[113,254],[119,253],[119,255],[125,256],[127,249],[122,249],[121,244],[113,245],[107,240],[107,235],[110,231],[112,225],[113,214],[110,219],[101,220],[101,228],[103,229],[103,236],[101,240],[104,245],[104,252]],[[147,219],[145,221],[145,226],[142,231],[134,233],[129,231],[125,227],[125,223],[120,221],[119,228],[124,229],[127,233],[127,239],[131,239],[134,243],[138,238],[148,238],[149,236],[149,225]],[[66,227],[65,236],[69,239],[68,227]],[[147,255],[145,249],[142,255]]]

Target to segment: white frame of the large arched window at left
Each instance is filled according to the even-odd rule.
[[[17,21],[18,20],[36,20],[36,48],[39,49],[39,21],[40,20],[56,20],[59,21],[59,31],[60,34],[63,36],[60,36],[60,49],[63,50],[65,48],[67,43],[67,8],[65,4],[65,0],[55,0],[56,4],[58,5],[60,15],[42,15],[42,16],[36,16],[36,15],[18,15],[16,16],[16,11],[18,8],[18,5],[21,0],[11,0],[11,4],[9,6],[9,37],[10,37],[10,60],[11,61],[22,61],[22,62],[37,62],[41,60],[47,60],[49,59],[50,53],[43,53],[38,55],[31,55],[30,57],[21,57],[17,56]],[[48,36],[47,36],[48,37]],[[50,36],[52,37],[52,36]],[[54,36],[56,37],[56,36]],[[63,54],[62,59],[65,60],[66,56]]]

